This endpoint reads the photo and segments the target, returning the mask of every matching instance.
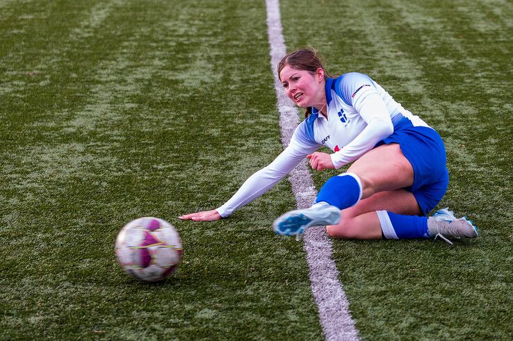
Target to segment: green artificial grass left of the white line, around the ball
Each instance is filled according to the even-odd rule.
[[[288,183],[220,206],[281,151],[261,1],[1,3],[0,339],[320,339],[302,244],[272,233]],[[156,216],[184,258],[122,272],[117,232]]]

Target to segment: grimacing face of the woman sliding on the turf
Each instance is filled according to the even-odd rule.
[[[279,73],[288,98],[301,108],[314,106],[320,108],[325,103],[324,70],[317,69],[315,74],[285,65]]]

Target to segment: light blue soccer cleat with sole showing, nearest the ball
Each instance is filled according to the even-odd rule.
[[[285,213],[272,223],[272,228],[279,235],[301,235],[311,226],[334,225],[340,219],[339,208],[320,202],[310,208]]]

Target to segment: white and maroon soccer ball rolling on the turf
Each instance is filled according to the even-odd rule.
[[[177,269],[181,240],[163,219],[142,217],[125,225],[116,239],[116,256],[130,276],[147,282],[162,281]]]

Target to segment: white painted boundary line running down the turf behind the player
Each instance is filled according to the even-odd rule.
[[[286,47],[282,34],[282,20],[278,0],[266,0],[267,27],[272,74],[278,101],[279,124],[282,127],[282,143],[287,146],[294,129],[299,124],[298,110],[283,90],[277,76],[279,60],[285,56]],[[311,206],[317,191],[307,163],[302,162],[290,174],[292,191],[298,208]],[[332,242],[324,226],[314,226],[304,234],[304,251],[307,253],[311,290],[319,309],[320,324],[326,340],[359,340],[355,322],[349,310],[349,302],[339,283],[339,271],[332,260]]]

